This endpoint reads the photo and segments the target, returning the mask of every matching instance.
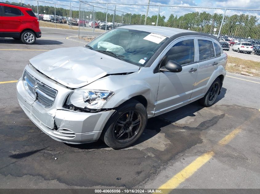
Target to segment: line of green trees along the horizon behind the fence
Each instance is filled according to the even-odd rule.
[[[6,1],[6,3],[10,3]],[[20,5],[20,3],[11,2],[15,5]],[[23,4],[22,6],[31,8],[34,13],[37,13],[37,6],[30,4]],[[74,8],[77,9],[77,8]],[[99,10],[101,8],[98,8]],[[39,13],[40,14],[50,14],[54,15],[54,6],[41,6],[39,5]],[[44,12],[45,11],[45,12]],[[131,14],[131,13],[123,13],[118,10],[114,11],[110,10],[110,13],[107,14],[107,21],[123,24],[144,24],[145,23],[145,14]],[[56,7],[56,15],[69,17],[70,9],[64,9],[61,7]],[[86,20],[94,20],[96,21],[106,21],[106,9],[103,11],[93,11],[88,9],[73,10],[72,9],[72,17],[86,19]],[[91,19],[90,19],[91,15]],[[165,16],[161,16],[159,14],[158,17],[158,26],[166,26],[180,29],[189,29],[196,32],[204,32],[204,33],[218,33],[220,29],[220,25],[222,22],[223,14],[210,14],[207,12],[192,12],[186,13],[182,16],[177,16],[174,14],[170,14],[169,18],[166,20]],[[146,20],[146,25],[156,25],[157,23],[157,15],[148,16]],[[214,31],[214,29],[217,29]],[[225,16],[224,22],[221,29],[222,35],[228,36],[238,36],[241,38],[251,37],[252,39],[260,39],[260,24],[258,23],[258,19],[256,16],[247,15],[247,14],[234,14],[231,16]]]

